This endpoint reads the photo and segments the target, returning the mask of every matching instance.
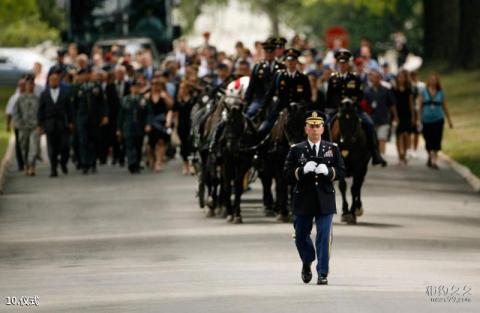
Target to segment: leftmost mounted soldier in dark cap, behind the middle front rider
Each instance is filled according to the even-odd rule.
[[[268,105],[265,103],[265,96],[272,85],[273,77],[277,71],[285,69],[283,63],[275,60],[276,45],[272,40],[263,42],[262,47],[265,58],[253,67],[250,83],[245,92],[248,117],[254,117]]]

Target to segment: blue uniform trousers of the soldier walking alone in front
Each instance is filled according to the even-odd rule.
[[[315,247],[313,246],[310,234],[312,232],[313,220],[317,228]],[[293,227],[295,228],[295,245],[303,263],[312,263],[317,257],[318,275],[328,275],[328,262],[330,260],[332,246],[332,222],[333,214],[319,214],[316,216],[295,215]]]

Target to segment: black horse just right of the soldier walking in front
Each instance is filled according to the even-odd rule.
[[[355,104],[350,99],[344,99],[340,105],[336,120],[332,123],[332,140],[345,161],[346,177],[353,177],[351,194],[352,205],[348,208],[345,179],[339,181],[342,193],[342,221],[355,224],[357,217],[363,214],[361,189],[367,175],[370,151],[367,145],[362,122],[357,116]]]

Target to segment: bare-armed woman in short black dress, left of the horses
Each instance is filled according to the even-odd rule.
[[[153,112],[152,131],[148,134],[149,165],[153,170],[159,172],[165,158],[166,146],[170,141],[167,120],[171,119],[169,115],[172,114],[173,99],[168,94],[165,84],[160,79],[154,78],[151,91],[146,95],[146,102]]]

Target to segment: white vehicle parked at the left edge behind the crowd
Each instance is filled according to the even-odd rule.
[[[35,62],[42,64],[45,77],[54,64],[31,48],[0,48],[0,87],[16,86],[22,75],[32,73]]]

